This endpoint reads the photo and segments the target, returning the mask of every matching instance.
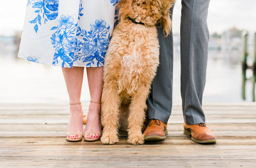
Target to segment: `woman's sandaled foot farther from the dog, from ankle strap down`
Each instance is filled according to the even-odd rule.
[[[83,135],[83,110],[81,104],[70,105],[70,116],[67,132],[80,132]],[[69,139],[81,139],[78,134],[68,134]]]

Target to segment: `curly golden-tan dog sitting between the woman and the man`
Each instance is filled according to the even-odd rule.
[[[141,130],[146,100],[159,64],[155,24],[164,26],[166,36],[170,33],[169,8],[173,2],[175,0],[121,0],[117,4],[120,22],[113,31],[104,64],[103,144],[119,141],[119,126],[122,131],[128,131],[129,143],[144,143]]]

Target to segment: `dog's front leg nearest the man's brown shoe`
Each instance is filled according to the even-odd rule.
[[[145,110],[147,110],[146,100],[148,97],[150,85],[141,84],[138,92],[133,96],[130,113],[128,117],[128,142],[133,145],[144,143],[144,136],[141,132],[145,119]]]

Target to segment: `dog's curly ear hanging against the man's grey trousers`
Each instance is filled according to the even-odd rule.
[[[168,36],[172,30],[172,20],[170,17],[170,8],[172,7],[173,3],[175,3],[175,2],[176,2],[176,0],[162,0],[163,16],[157,21],[157,23],[160,23],[161,26],[164,27],[164,34],[166,34],[165,37]]]

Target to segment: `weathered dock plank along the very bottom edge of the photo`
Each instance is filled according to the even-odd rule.
[[[180,156],[161,156],[161,157],[145,157],[140,159],[137,156],[83,156],[62,157],[24,157],[24,159],[15,160],[12,157],[6,157],[4,164],[16,167],[255,167],[255,162],[251,162],[251,158],[219,158],[214,156],[200,156],[196,160],[190,160]],[[118,160],[116,160],[118,158]],[[3,164],[2,164],[3,165]]]

